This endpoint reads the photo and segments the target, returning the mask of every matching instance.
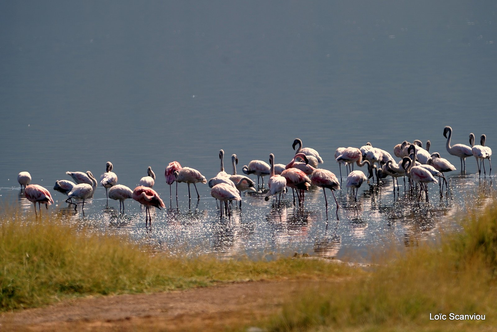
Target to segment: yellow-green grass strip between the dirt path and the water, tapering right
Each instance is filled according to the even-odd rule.
[[[55,214],[0,215],[0,310],[97,294],[157,292],[223,282],[355,273],[320,261],[169,257],[115,235],[77,231]]]

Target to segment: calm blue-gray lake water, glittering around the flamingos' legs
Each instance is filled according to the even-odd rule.
[[[412,3],[414,2],[414,3]],[[362,260],[392,241],[412,246],[456,227],[467,206],[492,203],[491,179],[479,180],[445,150],[473,132],[495,146],[497,7],[494,1],[39,1],[0,10],[0,202],[19,196],[16,176],[51,190],[66,171],[98,177],[112,161],[119,183],[138,185],[148,166],[167,209],[145,212],[105,201],[97,189],[74,212],[65,196],[50,206],[68,222],[150,241],[166,252],[220,256],[293,252]],[[339,174],[334,151],[370,141],[393,154],[407,139],[457,171],[440,197],[413,204],[392,181],[363,185],[354,204],[346,189],[328,213],[322,190],[303,208],[291,196],[272,208],[264,194],[245,194],[242,211],[220,218],[206,185],[188,207],[185,184],[170,202],[163,177],[177,160],[207,178],[219,149],[239,158],[286,164],[295,137],[320,151],[320,167]],[[342,169],[342,171],[344,171]],[[267,178],[266,178],[267,180]],[[193,187],[191,188],[193,191]],[[332,201],[332,196],[328,193]],[[45,211],[42,211],[44,213]],[[338,216],[338,220],[337,220]]]

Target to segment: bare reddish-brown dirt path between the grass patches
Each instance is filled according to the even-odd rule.
[[[101,296],[0,316],[0,331],[224,331],[257,327],[301,287],[261,281],[156,294]]]

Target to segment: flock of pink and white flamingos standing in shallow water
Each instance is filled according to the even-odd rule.
[[[446,149],[451,155],[457,156],[461,159],[461,170],[466,171],[467,157],[474,156],[477,161],[478,172],[481,175],[483,168],[484,175],[485,159],[489,160],[490,172],[492,172],[492,149],[485,146],[486,136],[481,135],[480,145],[475,145],[475,135],[469,135],[469,142],[471,146],[465,144],[450,145],[452,137],[452,128],[447,126],[443,130],[443,135],[447,138]],[[257,188],[259,188],[259,179],[264,186],[264,176],[269,175],[267,181],[268,190],[265,195],[265,200],[273,198],[273,204],[281,201],[281,195],[284,194],[288,188],[292,189],[293,204],[295,205],[295,193],[299,205],[304,204],[304,193],[309,190],[311,185],[323,188],[325,194],[326,208],[328,209],[328,199],[326,197],[325,189],[330,189],[333,198],[335,199],[336,208],[338,209],[338,202],[334,196],[334,191],[340,190],[341,183],[341,166],[345,165],[348,168],[348,176],[346,180],[346,187],[352,189],[354,199],[357,200],[357,191],[364,183],[376,175],[376,181],[379,183],[380,179],[392,176],[394,180],[394,193],[395,193],[395,180],[397,179],[397,190],[399,190],[399,177],[408,177],[411,192],[414,186],[419,184],[419,194],[417,202],[419,203],[421,196],[424,192],[426,201],[428,201],[427,184],[439,183],[440,191],[443,190],[443,184],[447,186],[444,173],[456,170],[447,159],[442,158],[440,153],[429,153],[430,141],[426,142],[426,148],[422,147],[421,141],[414,140],[413,143],[407,140],[394,146],[394,155],[402,158],[397,162],[392,155],[380,148],[373,147],[371,143],[367,143],[360,148],[357,147],[339,147],[335,151],[335,160],[340,165],[340,180],[331,171],[318,168],[318,165],[323,163],[323,159],[319,152],[313,148],[302,147],[302,140],[296,138],[292,147],[298,145],[295,156],[292,160],[284,164],[275,164],[274,154],[269,155],[269,164],[262,160],[252,160],[248,165],[243,166],[243,172],[246,175],[254,174],[257,176]],[[188,199],[191,200],[190,184],[193,184],[197,193],[197,199],[200,199],[196,183],[208,183],[211,188],[211,196],[214,197],[222,204],[224,203],[225,213],[230,215],[229,202],[235,201],[242,206],[241,192],[256,191],[255,182],[246,175],[237,174],[238,158],[236,154],[231,156],[233,172],[228,174],[224,170],[224,151],[219,151],[219,159],[221,160],[220,172],[210,179],[209,181],[196,169],[189,167],[181,167],[177,161],[170,162],[166,167],[165,177],[166,183],[169,185],[169,198],[172,199],[171,185],[176,182],[176,204],[177,204],[177,183],[185,182],[188,185]],[[363,171],[353,170],[356,164],[359,167],[367,166],[367,176]],[[483,167],[482,167],[483,165]],[[155,173],[149,166],[147,173],[148,176],[140,180],[140,184],[134,190],[117,184],[117,175],[112,172],[113,165],[109,161],[106,163],[105,173],[100,176],[100,186],[105,188],[107,199],[119,200],[119,209],[124,212],[124,200],[134,199],[146,206],[145,224],[150,223],[150,206],[155,206],[159,209],[166,207],[164,201],[159,197],[159,194],[152,189],[155,183]],[[97,187],[97,180],[90,171],[84,172],[66,172],[75,182],[69,180],[57,180],[54,190],[67,195],[66,202],[75,205],[75,210],[78,206],[73,202],[73,199],[82,200],[82,210],[84,209],[85,199],[91,198]],[[439,180],[435,179],[438,177]],[[41,204],[45,204],[47,209],[48,205],[54,203],[50,192],[35,184],[30,184],[31,176],[28,172],[20,172],[17,176],[17,181],[21,185],[21,191],[24,187],[24,196],[29,201],[33,202],[36,212],[36,203],[41,213]],[[405,180],[404,180],[405,181]],[[440,181],[440,182],[439,182]],[[84,210],[83,210],[84,213]],[[223,216],[223,206],[221,205],[221,217]]]

